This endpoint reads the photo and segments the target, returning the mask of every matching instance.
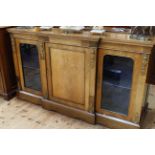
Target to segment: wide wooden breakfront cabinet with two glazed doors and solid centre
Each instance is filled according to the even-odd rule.
[[[151,42],[8,31],[18,97],[110,128],[140,127]]]

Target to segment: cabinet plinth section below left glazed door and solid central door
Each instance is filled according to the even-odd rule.
[[[40,96],[27,93],[24,91],[19,91],[17,95],[18,95],[18,98],[28,102],[32,102],[37,105],[41,105],[44,109],[56,111],[64,115],[81,119],[91,124],[95,124],[95,114],[89,113],[87,111],[69,107],[61,103],[47,100]]]

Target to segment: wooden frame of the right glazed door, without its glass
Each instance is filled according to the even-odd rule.
[[[105,55],[131,58],[134,62],[128,115],[123,115],[123,114],[119,114],[116,112],[112,112],[112,111],[108,111],[106,109],[100,108],[101,101],[102,101],[102,90],[103,90],[102,88],[103,61],[104,61],[103,58]],[[131,121],[135,117],[134,108],[135,108],[136,93],[137,93],[137,86],[138,86],[138,77],[140,76],[140,70],[141,70],[141,55],[138,53],[99,49],[97,68],[98,68],[97,69],[98,71],[97,71],[96,108],[95,108],[96,112]]]

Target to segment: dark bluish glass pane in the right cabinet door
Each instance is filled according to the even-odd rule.
[[[103,63],[101,107],[112,112],[128,115],[133,60],[106,55],[103,58]]]

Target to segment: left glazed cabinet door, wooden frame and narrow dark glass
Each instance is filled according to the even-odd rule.
[[[20,89],[47,97],[44,45],[38,41],[16,40]]]

